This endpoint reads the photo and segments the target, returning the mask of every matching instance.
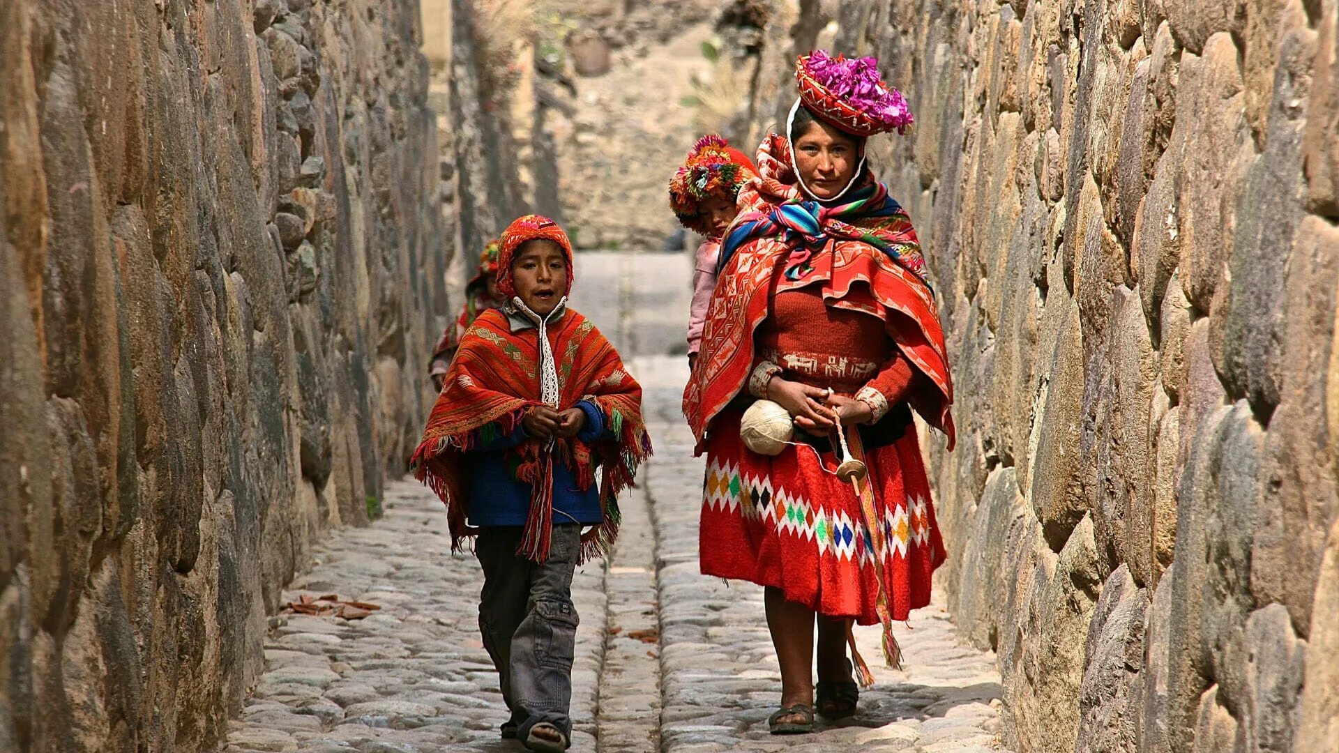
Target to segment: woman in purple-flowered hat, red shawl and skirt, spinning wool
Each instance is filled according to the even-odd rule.
[[[912,409],[953,439],[944,335],[907,213],[865,167],[865,139],[912,118],[877,60],[799,59],[786,137],[758,151],[726,233],[684,414],[707,454],[702,572],[765,587],[781,663],[774,733],[856,711],[852,622],[892,622],[929,603],[944,561]],[[774,457],[740,441],[743,410],[779,403],[798,431]],[[850,453],[868,476],[834,474]],[[858,492],[857,492],[858,488]],[[813,686],[814,623],[818,686]]]

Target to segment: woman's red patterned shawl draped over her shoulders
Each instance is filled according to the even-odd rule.
[[[789,162],[786,139],[770,135],[758,151],[761,176],[740,192],[740,205],[747,202],[753,210],[735,220],[728,236],[746,232],[743,226],[750,222],[769,226],[777,217],[769,217],[770,212],[802,200]],[[886,196],[886,189],[874,185],[873,194]],[[865,201],[872,208],[886,208],[886,202],[877,201],[878,196]],[[912,407],[948,435],[952,449],[953,417],[949,406],[953,402],[953,382],[935,296],[916,273],[915,264],[898,263],[870,243],[873,236],[878,245],[896,248],[898,256],[917,260],[920,244],[911,218],[901,208],[868,216],[858,212],[853,216],[841,209],[819,214],[817,234],[807,233],[806,237],[801,232],[778,232],[747,240],[720,269],[707,311],[698,366],[683,395],[683,411],[698,439],[699,453],[711,419],[739,394],[754,367],[754,330],[771,314],[769,291],[777,276],[782,277],[777,289],[818,284],[828,305],[861,311],[884,320],[901,352],[936,387],[933,394],[917,394]],[[815,244],[821,244],[821,251],[811,251]],[[795,272],[801,267],[803,271]]]

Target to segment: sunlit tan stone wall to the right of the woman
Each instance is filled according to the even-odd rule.
[[[1020,752],[1339,750],[1336,8],[774,7],[754,137],[815,43],[917,118],[870,150],[949,332],[939,583]]]

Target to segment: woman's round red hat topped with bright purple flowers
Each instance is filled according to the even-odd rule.
[[[874,58],[848,60],[814,50],[795,60],[795,83],[805,107],[853,135],[901,134],[913,122],[902,92],[884,83]]]

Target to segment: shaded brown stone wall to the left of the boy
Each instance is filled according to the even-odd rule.
[[[0,4],[0,749],[205,750],[426,411],[416,1]]]

